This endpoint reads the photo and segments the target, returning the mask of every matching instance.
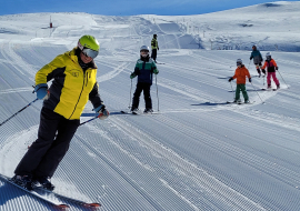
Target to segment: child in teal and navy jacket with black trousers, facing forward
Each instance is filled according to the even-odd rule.
[[[154,61],[149,57],[149,47],[142,46],[140,48],[140,59],[137,61],[134,72],[130,74],[130,79],[138,76],[137,89],[133,93],[131,111],[139,110],[140,94],[143,91],[143,98],[146,103],[144,113],[153,112],[152,100],[150,96],[150,89],[152,86],[152,77],[158,74],[159,71]]]

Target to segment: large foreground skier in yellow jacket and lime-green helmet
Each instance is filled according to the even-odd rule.
[[[17,184],[32,190],[33,183],[39,182],[53,190],[49,179],[69,149],[88,100],[100,119],[109,115],[98,92],[93,59],[99,48],[92,36],[83,36],[73,50],[58,56],[37,72],[34,92],[38,99],[43,99],[38,139],[14,170],[12,181]],[[52,79],[48,89],[47,82]]]

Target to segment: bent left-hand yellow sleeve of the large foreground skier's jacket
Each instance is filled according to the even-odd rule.
[[[66,70],[66,63],[62,56],[58,56],[50,63],[42,67],[36,74],[36,86],[47,83],[61,71]]]

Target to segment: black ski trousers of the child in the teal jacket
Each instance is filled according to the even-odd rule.
[[[142,83],[138,82],[137,83],[137,89],[133,93],[133,99],[132,99],[132,110],[136,108],[139,108],[139,102],[140,102],[140,96],[141,92],[143,91],[143,98],[144,98],[144,104],[147,109],[152,109],[152,100],[150,96],[150,88],[151,83]]]

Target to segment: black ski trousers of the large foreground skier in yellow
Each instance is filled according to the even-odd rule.
[[[69,149],[80,120],[68,120],[50,109],[42,108],[38,139],[18,164],[18,175],[52,177]]]

